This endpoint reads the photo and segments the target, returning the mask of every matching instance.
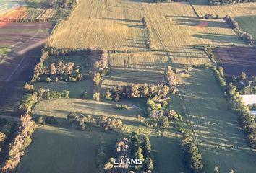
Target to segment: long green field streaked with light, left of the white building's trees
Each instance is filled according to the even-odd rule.
[[[189,129],[202,151],[205,171],[212,172],[218,166],[219,172],[255,172],[256,157],[211,71],[193,70],[184,75],[179,89]]]

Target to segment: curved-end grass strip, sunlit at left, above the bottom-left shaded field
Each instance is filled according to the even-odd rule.
[[[54,116],[60,121],[65,120],[69,112],[77,112],[85,115],[107,116],[119,118],[127,124],[139,125],[137,115],[142,113],[140,107],[135,107],[129,100],[119,102],[126,104],[129,110],[115,109],[116,102],[95,102],[91,99],[56,99],[38,102],[33,110],[34,116]]]

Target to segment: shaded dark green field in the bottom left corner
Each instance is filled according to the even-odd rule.
[[[88,130],[45,126],[33,134],[33,143],[15,172],[97,172],[95,156],[99,142],[114,146],[119,138],[118,133],[103,133],[96,129],[89,133]]]

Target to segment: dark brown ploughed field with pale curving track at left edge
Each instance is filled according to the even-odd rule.
[[[0,89],[4,91],[0,94],[1,114],[12,112],[19,101],[21,86],[30,80],[41,46],[53,27],[46,22],[15,22],[0,27],[0,47],[12,48],[0,63]]]

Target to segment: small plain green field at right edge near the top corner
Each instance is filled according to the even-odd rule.
[[[254,39],[256,38],[256,16],[236,17],[235,20],[239,23],[240,30],[248,32]]]

